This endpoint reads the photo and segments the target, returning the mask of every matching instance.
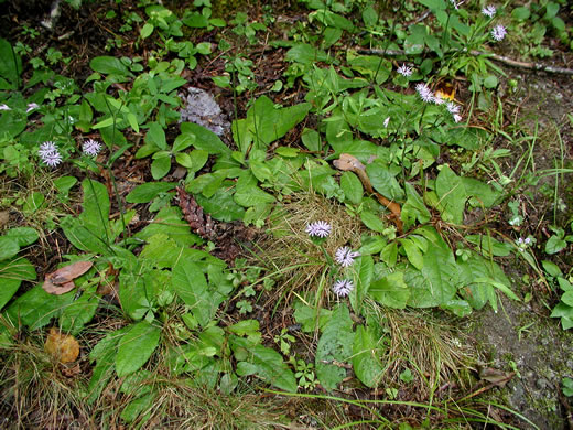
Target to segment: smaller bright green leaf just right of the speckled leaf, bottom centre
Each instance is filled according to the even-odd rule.
[[[360,381],[367,387],[374,388],[383,375],[383,366],[378,358],[380,346],[376,341],[378,336],[370,327],[358,325],[353,343],[353,368]]]

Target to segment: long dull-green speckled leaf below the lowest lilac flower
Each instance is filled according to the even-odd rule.
[[[345,363],[353,356],[353,320],[346,304],[339,304],[324,326],[315,356],[316,376],[328,391],[337,388],[346,377],[346,369],[335,363]]]

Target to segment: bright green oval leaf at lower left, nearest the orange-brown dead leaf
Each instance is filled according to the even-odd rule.
[[[161,329],[147,321],[133,324],[119,341],[116,373],[119,377],[137,372],[158,347]]]

